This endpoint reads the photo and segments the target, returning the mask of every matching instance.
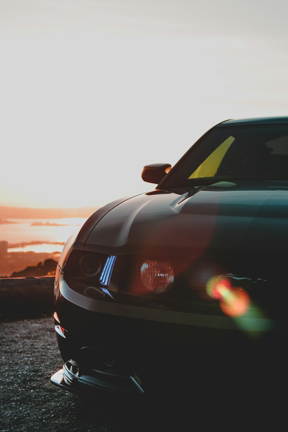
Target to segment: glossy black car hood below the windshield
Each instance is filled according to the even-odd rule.
[[[281,253],[288,242],[287,182],[218,182],[152,191],[110,210],[85,250],[114,255]]]

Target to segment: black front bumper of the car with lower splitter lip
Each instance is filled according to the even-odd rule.
[[[194,389],[229,387],[231,378],[242,388],[251,379],[267,380],[284,358],[283,334],[273,332],[272,320],[91,299],[73,291],[62,274],[55,298],[55,325],[65,329],[57,331],[64,365],[51,381],[79,394],[146,399],[191,383]]]

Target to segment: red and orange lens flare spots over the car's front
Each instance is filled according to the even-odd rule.
[[[220,308],[229,317],[241,317],[250,308],[250,296],[241,286],[233,287],[222,276],[213,276],[206,284],[206,291],[212,299],[219,300]]]

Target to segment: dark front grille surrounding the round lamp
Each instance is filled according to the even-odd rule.
[[[209,280],[226,279],[231,292],[246,292],[253,316],[284,318],[287,304],[286,257],[238,254],[231,259],[180,257],[119,257],[122,277],[117,286],[124,295],[118,301],[149,308],[200,314],[225,315],[219,299],[211,296]],[[169,261],[174,269],[174,283],[167,292],[158,294],[146,289],[140,280],[140,269],[146,259]],[[120,264],[120,263],[118,263]],[[119,275],[118,275],[119,276]],[[117,275],[113,274],[112,280]],[[214,280],[213,279],[213,280]],[[229,305],[229,304],[228,304]]]

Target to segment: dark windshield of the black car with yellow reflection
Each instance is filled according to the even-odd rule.
[[[165,186],[288,180],[288,125],[216,127],[175,166]]]

